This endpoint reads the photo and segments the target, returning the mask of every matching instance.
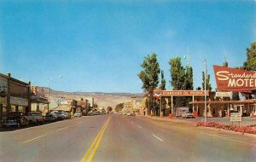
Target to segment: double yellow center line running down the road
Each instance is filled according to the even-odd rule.
[[[108,127],[108,123],[109,123],[111,117],[112,116],[108,117],[107,122],[102,126],[102,129],[99,131],[98,135],[96,136],[96,138],[94,139],[94,141],[90,145],[90,148],[84,154],[84,157],[83,157],[83,159],[81,159],[81,162],[84,162],[84,161],[91,162],[91,160],[93,159],[93,157],[94,157],[94,155],[96,153],[97,148],[100,145],[100,142],[102,141],[102,136],[104,135],[105,130]]]

